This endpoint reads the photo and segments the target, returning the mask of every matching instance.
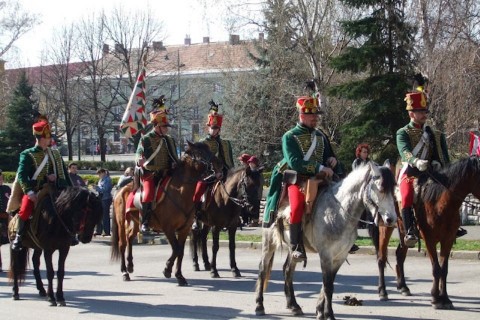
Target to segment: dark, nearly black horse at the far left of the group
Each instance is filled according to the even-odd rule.
[[[48,192],[52,194],[53,191]],[[39,199],[41,199],[40,195]],[[95,225],[102,217],[102,203],[95,193],[79,187],[69,187],[62,191],[55,200],[53,207],[49,194],[44,199],[45,201],[39,200],[41,202],[38,204],[41,216],[38,220],[36,233],[35,230],[26,226],[22,241],[24,248],[20,251],[10,250],[9,278],[13,280],[13,299],[18,300],[20,299],[18,282],[25,278],[28,248],[33,249],[33,274],[40,296],[47,296],[52,306],[56,306],[57,303],[64,306],[65,260],[70,250],[72,234],[76,233],[82,243],[89,243],[92,240]],[[10,224],[14,221],[12,219]],[[55,271],[52,255],[55,251],[58,251],[58,267],[57,290],[54,294],[53,278]],[[43,287],[40,276],[40,256],[42,252],[47,268],[47,291]]]

